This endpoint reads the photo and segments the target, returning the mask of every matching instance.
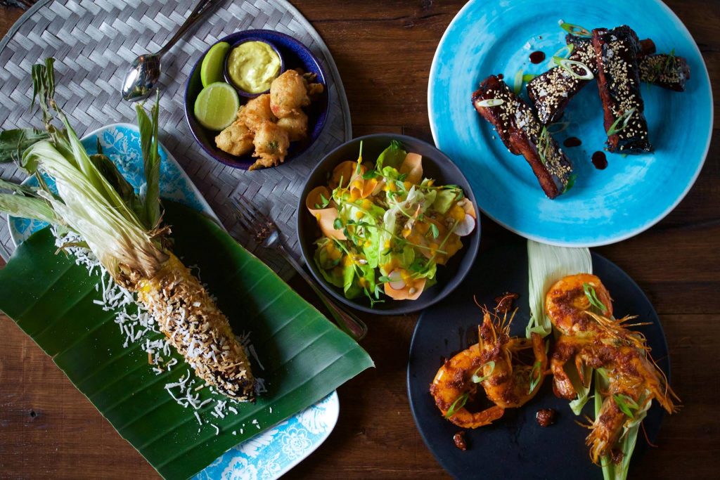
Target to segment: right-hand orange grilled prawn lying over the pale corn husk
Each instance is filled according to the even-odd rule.
[[[675,412],[677,397],[652,361],[645,338],[627,328],[633,317],[612,317],[610,294],[597,276],[580,274],[557,281],[546,294],[545,309],[560,332],[550,361],[555,394],[565,399],[577,395],[564,369],[570,361],[584,384],[590,379],[583,378],[583,365],[601,369],[608,380],[605,400],[587,438],[595,463],[611,453],[624,427],[634,420],[628,413],[643,412],[653,399],[667,412]]]

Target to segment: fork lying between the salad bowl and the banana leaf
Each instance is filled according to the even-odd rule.
[[[245,196],[240,195],[239,198],[240,201],[237,199],[230,199],[230,201],[233,202],[233,206],[235,207],[233,213],[235,214],[235,218],[238,219],[238,222],[240,222],[240,225],[253,236],[258,245],[261,245],[263,248],[271,248],[278,251],[287,263],[292,265],[297,273],[300,273],[302,279],[312,287],[312,290],[320,297],[325,307],[330,310],[330,314],[333,315],[338,327],[340,327],[343,332],[346,332],[355,340],[362,340],[365,335],[367,335],[367,325],[365,325],[365,322],[360,320],[356,314],[346,312],[341,309],[341,307],[338,307],[338,304],[330,300],[320,289],[318,282],[308,275],[305,268],[302,268],[302,265],[287,251],[275,222],[255,207]]]

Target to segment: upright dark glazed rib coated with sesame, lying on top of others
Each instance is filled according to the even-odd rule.
[[[593,30],[593,47],[598,62],[598,91],[603,101],[608,151],[652,151],[640,93],[637,66],[640,45],[635,32],[627,25],[613,30]]]

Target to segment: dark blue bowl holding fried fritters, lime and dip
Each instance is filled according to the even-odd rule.
[[[318,99],[315,99],[315,101],[310,104],[310,107],[305,108],[305,113],[307,114],[307,139],[302,140],[301,142],[290,143],[287,151],[287,157],[285,158],[285,163],[287,163],[289,160],[292,160],[292,158],[295,158],[305,152],[305,150],[307,150],[307,148],[309,148],[310,145],[318,139],[320,132],[322,132],[323,127],[325,126],[325,121],[328,119],[330,92],[328,92],[327,83],[325,81],[325,72],[320,66],[318,59],[315,58],[315,55],[312,55],[312,52],[310,52],[305,45],[302,45],[302,43],[298,42],[289,35],[285,35],[284,33],[273,32],[272,30],[246,30],[244,32],[237,32],[228,35],[227,37],[218,40],[218,42],[228,42],[230,45],[237,45],[238,42],[249,38],[265,40],[271,45],[274,45],[282,57],[285,69],[302,68],[306,72],[315,73],[318,83],[323,83],[323,85],[325,85],[325,91],[323,94],[320,95]],[[210,50],[210,48],[208,48],[208,50]],[[193,107],[195,99],[197,99],[197,95],[202,90],[200,65],[202,64],[202,59],[206,54],[207,50],[205,50],[200,58],[198,58],[192,68],[192,73],[190,73],[190,76],[187,79],[185,86],[185,118],[190,126],[192,135],[200,144],[202,150],[205,150],[207,155],[210,155],[210,157],[215,158],[215,160],[219,162],[225,163],[225,165],[247,170],[253,163],[255,163],[255,159],[251,155],[237,157],[235,155],[230,155],[230,153],[223,152],[220,148],[215,146],[215,136],[218,132],[207,130],[207,128],[203,127],[195,119]]]

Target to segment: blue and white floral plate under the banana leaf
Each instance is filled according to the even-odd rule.
[[[88,153],[97,152],[97,140],[100,140],[103,153],[117,165],[122,176],[135,186],[136,191],[141,191],[145,186],[145,177],[138,127],[116,123],[89,133],[82,138]],[[200,191],[162,145],[160,157],[160,190],[163,199],[186,204],[222,225]],[[37,180],[29,177],[23,184],[37,186]],[[47,225],[16,217],[9,217],[8,224],[15,246]],[[320,402],[261,435],[230,448],[194,478],[276,479],[300,463],[328,438],[338,421],[339,413],[338,393],[333,391]]]

